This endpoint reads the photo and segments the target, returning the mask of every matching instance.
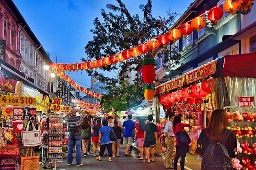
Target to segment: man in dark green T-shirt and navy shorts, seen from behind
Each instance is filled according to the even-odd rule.
[[[153,116],[148,115],[148,123],[146,123],[143,127],[144,131],[144,147],[145,147],[145,156],[148,158],[147,163],[154,162],[154,155],[155,155],[155,145],[157,143],[157,127],[156,125],[152,122],[153,121]],[[151,148],[151,159],[150,159],[150,150]]]

